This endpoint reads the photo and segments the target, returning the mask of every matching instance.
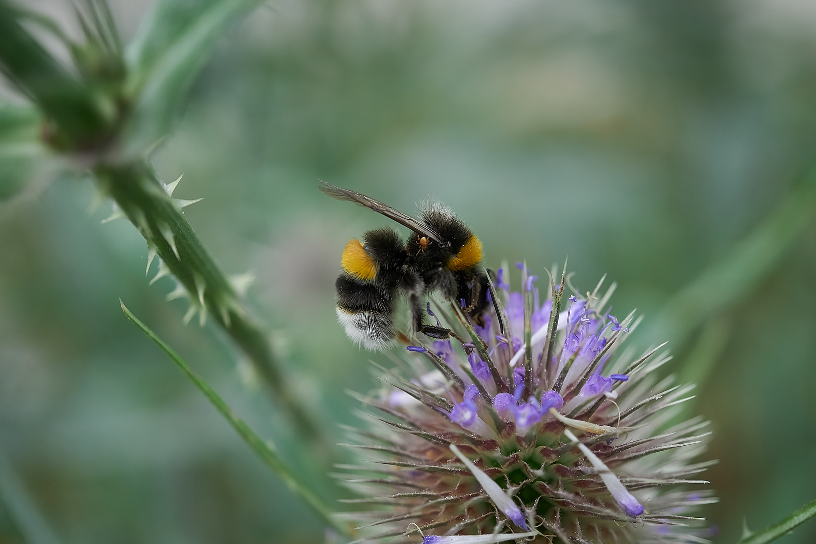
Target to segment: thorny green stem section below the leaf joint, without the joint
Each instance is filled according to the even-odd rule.
[[[155,248],[162,263],[187,289],[190,303],[215,319],[233,338],[304,435],[317,438],[317,425],[287,387],[261,325],[241,303],[150,167],[142,161],[100,162],[93,171],[102,192],[116,201],[149,247]]]

